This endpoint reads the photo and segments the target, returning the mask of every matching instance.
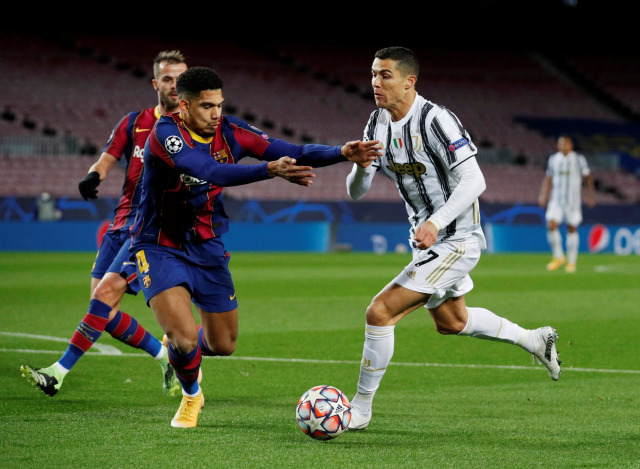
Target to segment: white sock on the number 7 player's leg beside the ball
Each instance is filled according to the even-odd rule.
[[[360,362],[360,376],[358,378],[358,393],[352,399],[363,411],[368,412],[371,401],[387,366],[391,362],[394,347],[395,326],[370,326],[367,324],[364,334],[362,361]]]

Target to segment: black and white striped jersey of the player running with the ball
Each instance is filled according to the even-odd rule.
[[[364,140],[380,140],[384,156],[373,164],[398,188],[411,233],[442,207],[458,184],[453,169],[477,149],[460,120],[447,108],[416,95],[407,115],[392,122],[384,109],[371,113]],[[481,233],[478,200],[443,227],[439,239],[463,239]]]

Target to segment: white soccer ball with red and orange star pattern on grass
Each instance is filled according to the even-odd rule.
[[[338,388],[314,386],[300,397],[296,420],[302,432],[314,440],[331,440],[349,426],[351,403]]]

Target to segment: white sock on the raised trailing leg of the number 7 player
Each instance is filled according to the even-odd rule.
[[[459,335],[519,345],[527,352],[533,353],[533,334],[530,334],[528,329],[485,308],[467,307],[467,312],[467,324]]]

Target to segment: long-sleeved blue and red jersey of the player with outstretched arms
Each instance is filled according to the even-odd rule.
[[[245,156],[263,162],[236,164]],[[268,179],[267,162],[282,156],[316,167],[346,161],[339,146],[293,145],[233,116],[223,116],[208,139],[191,132],[179,113],[162,116],[144,149],[133,243],[181,249],[191,240],[221,236],[229,229],[222,188]]]

